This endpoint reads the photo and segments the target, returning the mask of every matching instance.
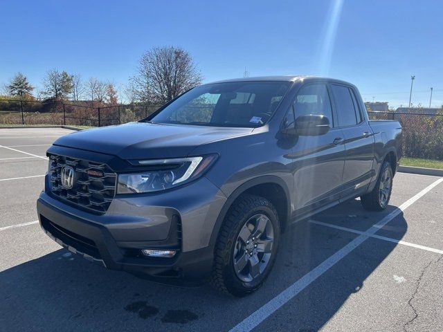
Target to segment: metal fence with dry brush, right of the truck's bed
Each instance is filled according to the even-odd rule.
[[[437,114],[368,111],[368,116],[401,123],[404,156],[443,160],[443,110]]]

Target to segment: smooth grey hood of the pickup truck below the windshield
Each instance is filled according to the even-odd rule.
[[[130,122],[71,133],[57,139],[54,145],[111,154],[122,159],[174,158],[188,156],[199,145],[248,135],[252,131],[252,128]]]

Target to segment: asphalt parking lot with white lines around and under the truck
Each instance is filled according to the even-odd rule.
[[[443,331],[443,178],[399,173],[390,205],[291,225],[241,299],[106,270],[42,232],[46,149],[68,129],[0,129],[2,331]]]

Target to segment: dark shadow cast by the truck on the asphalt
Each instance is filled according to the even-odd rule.
[[[365,212],[354,200],[313,219],[364,231],[395,209]],[[397,216],[396,227],[401,239],[407,230],[403,214]],[[278,259],[264,287],[242,299],[210,286],[154,284],[60,249],[0,273],[0,324],[3,331],[227,331],[357,236],[309,221],[291,225],[282,234]],[[44,234],[39,239],[46,241]],[[284,317],[278,320],[278,311],[277,318],[269,320],[277,320],[285,331],[318,331],[364,287],[395,246],[366,240],[288,302]],[[262,330],[271,330],[263,325]]]

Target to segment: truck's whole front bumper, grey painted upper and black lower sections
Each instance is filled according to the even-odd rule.
[[[225,199],[207,179],[197,182],[201,182],[198,187],[204,191],[200,194],[188,186],[180,189],[181,200],[177,196],[180,190],[163,196],[161,203],[168,208],[152,205],[154,201],[160,203],[161,195],[133,196],[114,199],[103,215],[75,209],[42,192],[37,201],[39,222],[44,232],[61,246],[109,269],[158,281],[170,279],[168,282],[177,284],[199,281],[210,275],[213,264],[213,248],[204,234],[212,232],[217,219],[213,214]],[[208,186],[214,187],[213,192],[208,192]],[[187,191],[193,194],[186,196]],[[206,203],[193,203],[204,210],[191,208],[186,199],[196,199],[196,195],[205,196]],[[169,205],[170,200],[176,200],[174,208]],[[156,214],[146,215],[153,211]],[[153,234],[159,237],[155,239],[157,235]],[[140,250],[147,248],[170,248],[177,250],[177,254],[171,258],[143,257]]]

